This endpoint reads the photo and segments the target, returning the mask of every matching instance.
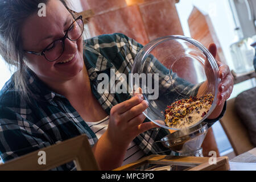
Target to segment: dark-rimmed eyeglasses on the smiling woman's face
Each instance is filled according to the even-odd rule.
[[[76,15],[79,15],[75,11],[72,11]],[[42,52],[35,51],[26,51],[27,53],[31,53],[34,55],[44,56],[48,61],[56,61],[60,58],[60,56],[64,52],[65,47],[65,39],[68,38],[71,41],[77,41],[84,31],[84,22],[82,21],[82,16],[80,15],[75,21],[68,27],[67,32],[63,36],[63,38],[57,39],[49,44],[46,48],[43,49]]]

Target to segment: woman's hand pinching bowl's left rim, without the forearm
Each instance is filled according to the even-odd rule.
[[[143,100],[142,94],[112,107],[106,133],[116,146],[128,146],[139,134],[157,127],[153,122],[143,123],[146,117],[142,112],[147,107],[148,102]]]

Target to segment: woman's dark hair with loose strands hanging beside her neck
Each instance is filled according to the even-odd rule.
[[[26,69],[22,47],[21,29],[25,20],[37,13],[39,3],[47,5],[49,0],[0,0],[0,55],[14,66],[14,88],[26,100],[31,93],[26,84]],[[67,0],[59,0],[68,9]],[[69,10],[69,9],[68,9]]]

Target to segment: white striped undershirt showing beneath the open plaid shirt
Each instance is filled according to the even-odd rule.
[[[86,122],[90,129],[96,134],[99,139],[106,131],[109,125],[109,116],[98,122]],[[125,158],[123,160],[123,165],[135,162],[144,156],[144,152],[135,144],[131,142],[127,148]]]

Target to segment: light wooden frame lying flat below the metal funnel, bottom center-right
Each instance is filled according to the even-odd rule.
[[[162,164],[169,166],[187,166],[188,171],[228,171],[228,157],[216,158],[216,164],[209,164],[209,159],[206,157],[195,156],[167,156],[167,155],[150,155],[137,162],[127,164],[125,166],[114,169],[114,171],[134,170],[144,164]]]

